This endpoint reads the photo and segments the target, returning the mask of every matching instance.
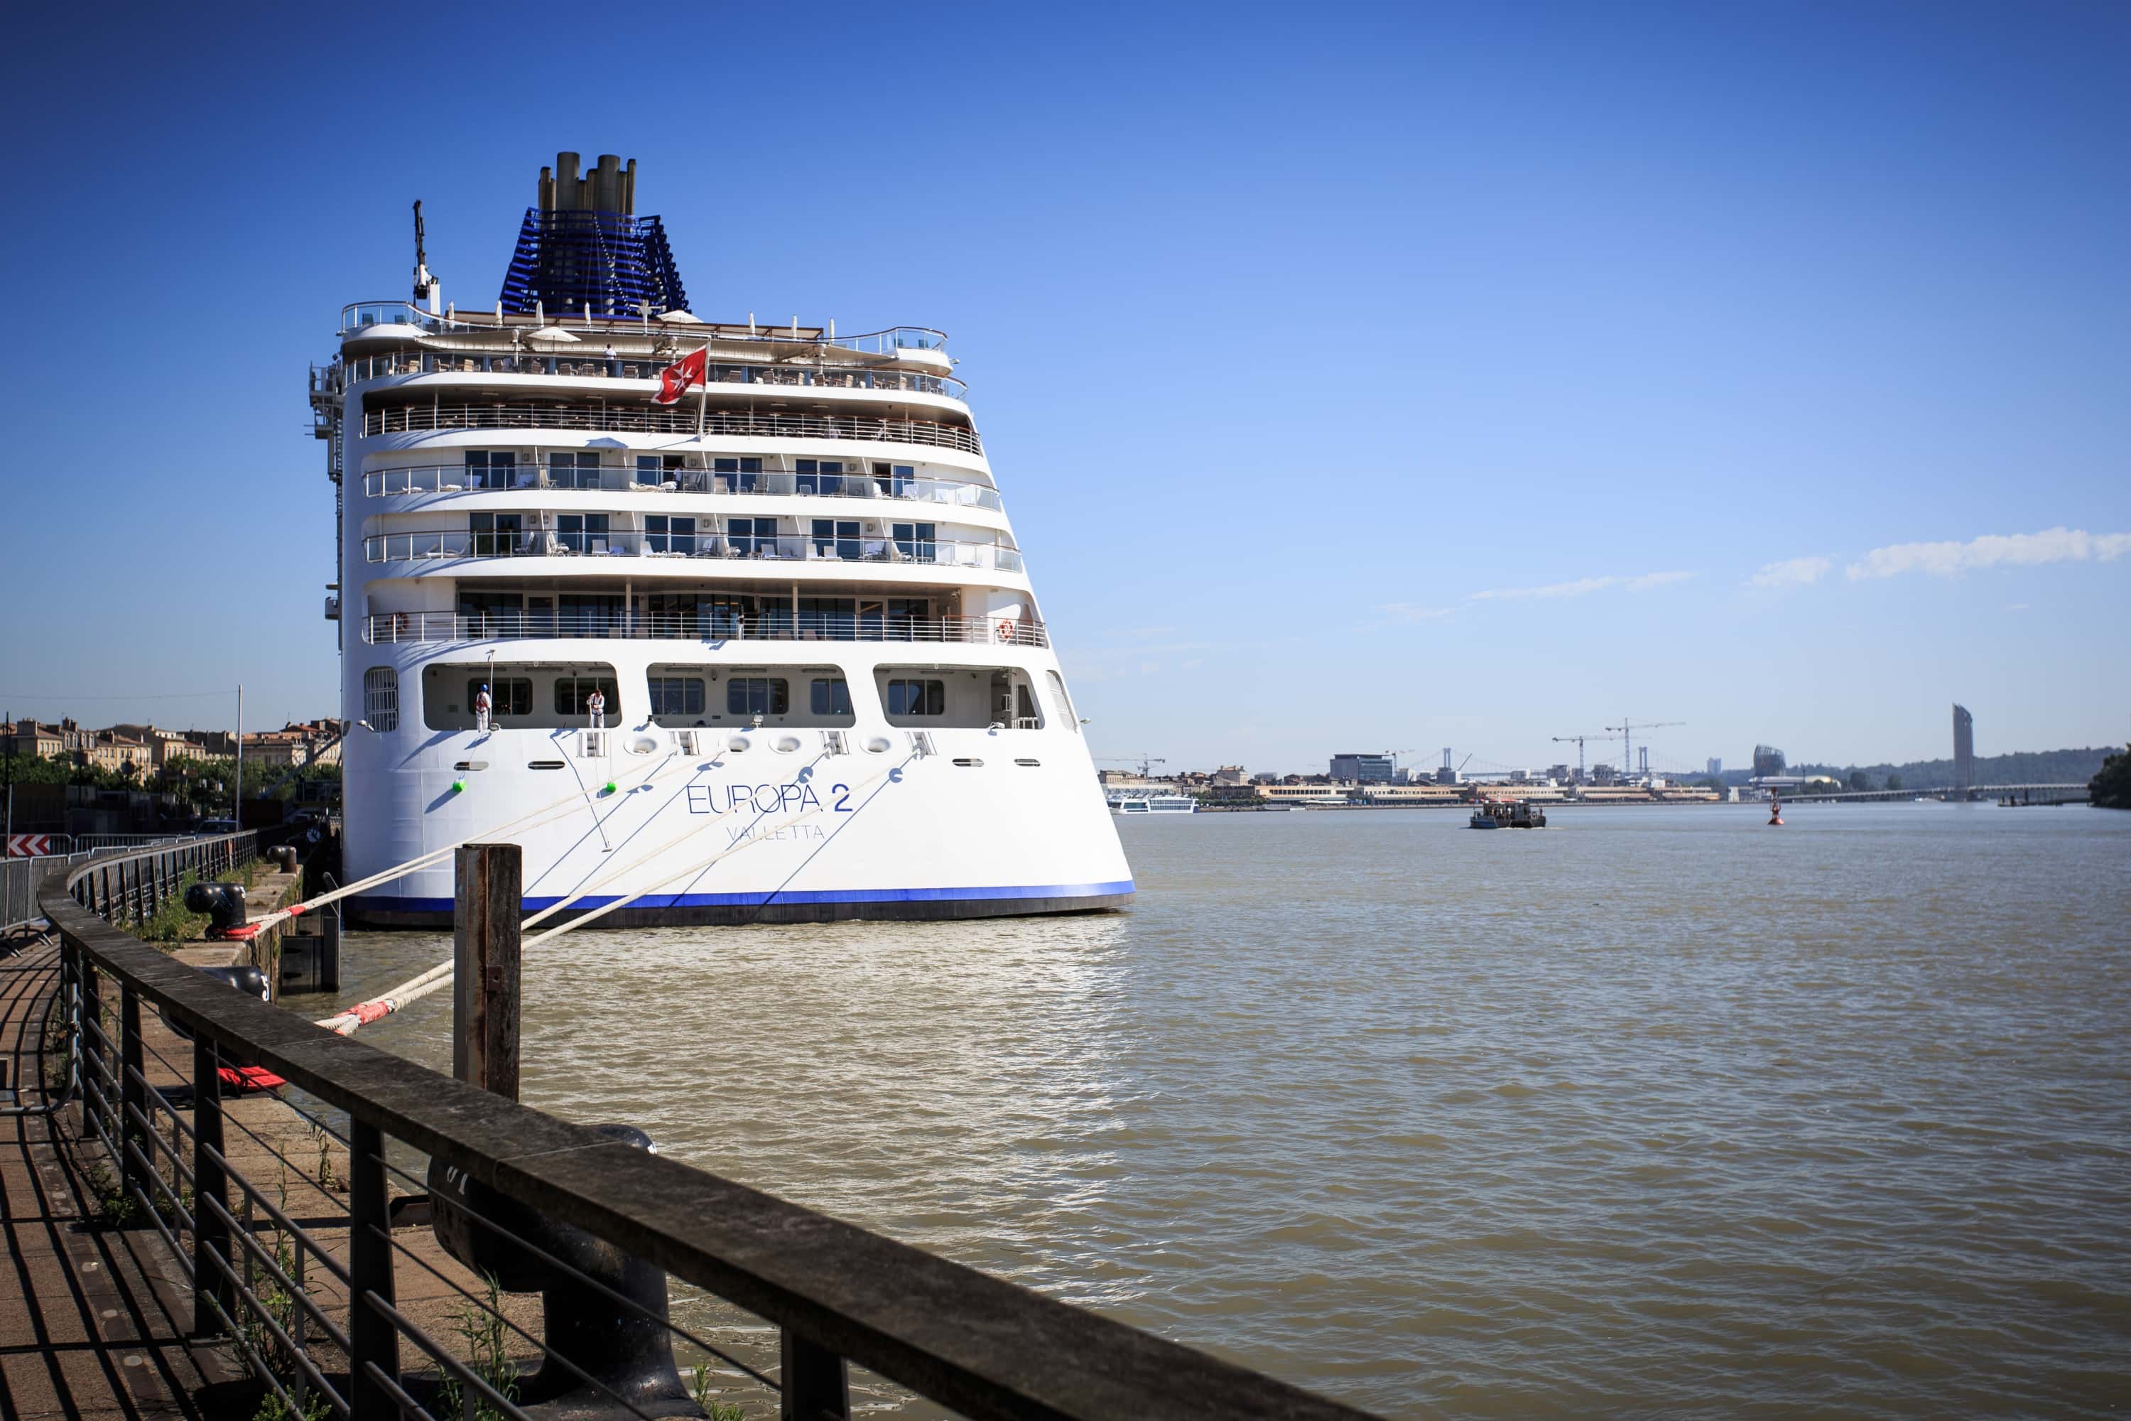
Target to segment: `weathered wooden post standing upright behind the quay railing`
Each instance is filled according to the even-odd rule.
[[[516,844],[465,844],[452,910],[452,1074],[518,1099],[518,891]]]

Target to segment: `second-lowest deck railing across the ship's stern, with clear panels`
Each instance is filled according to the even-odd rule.
[[[710,522],[707,518],[703,522]],[[445,558],[746,558],[786,562],[882,562],[912,567],[963,567],[978,571],[1025,571],[1021,550],[950,537],[844,537],[778,533],[727,535],[716,528],[688,533],[639,533],[614,528],[582,533],[522,528],[479,533],[469,528],[422,528],[377,533],[362,539],[364,562],[422,562]]]

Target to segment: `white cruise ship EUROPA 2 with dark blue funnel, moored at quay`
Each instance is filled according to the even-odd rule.
[[[1117,829],[946,337],[697,317],[635,162],[541,168],[499,298],[343,309],[343,882],[454,844],[612,925],[1112,910]],[[482,695],[486,688],[486,703]]]

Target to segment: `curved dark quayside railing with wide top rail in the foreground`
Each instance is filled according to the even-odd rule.
[[[808,1421],[848,1421],[861,1385],[891,1395],[869,1378],[980,1421],[1362,1417],[230,991],[100,916],[94,882],[113,871],[141,876],[111,854],[49,873],[38,895],[60,933],[85,1144],[102,1146],[115,1193],[190,1283],[194,1334],[228,1338],[283,1415],[533,1421],[535,1402],[567,1402],[569,1415],[654,1421],[690,1415],[671,1368],[684,1344]],[[145,1031],[156,1016],[190,1048]],[[309,1140],[222,1106],[241,1067],[281,1080],[277,1108]],[[275,1178],[247,1176],[254,1146]],[[426,1178],[409,1155],[426,1159]],[[420,1246],[422,1225],[394,1195],[428,1197],[441,1248]],[[486,1295],[475,1268],[492,1280]],[[469,1310],[460,1346],[409,1314],[405,1278],[433,1278]],[[669,1278],[767,1323],[774,1357],[767,1338],[720,1344],[671,1323]],[[546,1291],[541,1336],[499,1306],[497,1287]],[[637,1374],[663,1372],[663,1387],[635,1387],[592,1355],[595,1338],[663,1359]],[[526,1351],[537,1376],[514,1357]],[[697,1404],[710,1400],[705,1372]],[[522,1391],[550,1378],[567,1391]]]

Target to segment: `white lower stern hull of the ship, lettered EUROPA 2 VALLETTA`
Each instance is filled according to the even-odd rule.
[[[1057,714],[1044,729],[912,731],[867,716],[861,692],[848,726],[667,729],[641,714],[641,699],[627,714],[629,688],[682,650],[714,652],[597,639],[499,646],[514,665],[612,665],[622,720],[609,718],[603,735],[507,720],[488,733],[430,731],[405,718],[390,735],[356,731],[343,780],[349,882],[497,837],[524,848],[526,912],[631,899],[603,914],[616,927],[1093,912],[1132,895],[1117,833],[1087,793],[1087,741]],[[401,684],[418,686],[439,680],[422,675],[426,665],[486,663],[490,648],[398,650]],[[837,667],[863,688],[882,663],[925,663],[942,675],[1025,665],[1042,680],[1048,652],[861,641],[748,646],[729,660],[788,680]],[[356,897],[352,914],[445,925],[452,891],[445,856]]]

